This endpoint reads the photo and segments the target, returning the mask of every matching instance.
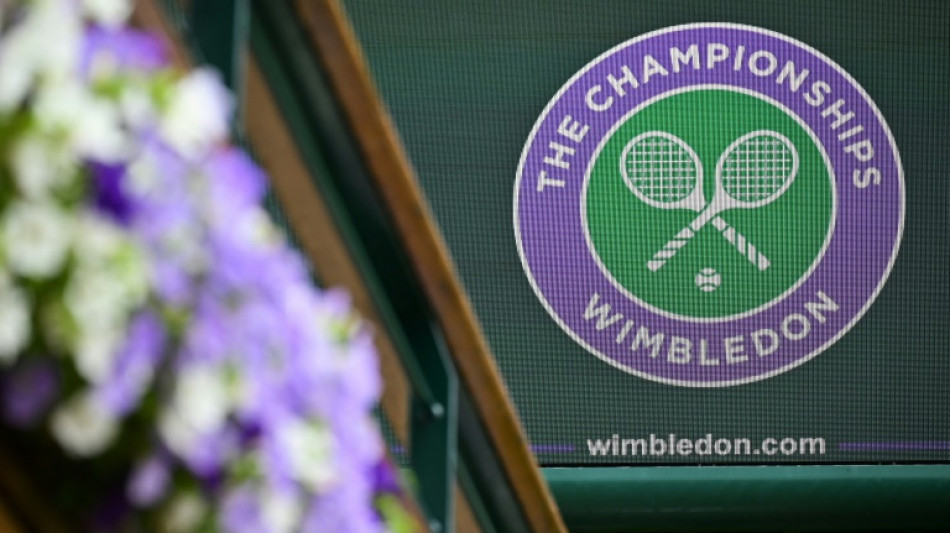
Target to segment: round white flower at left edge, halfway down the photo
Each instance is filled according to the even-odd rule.
[[[59,207],[41,202],[13,203],[3,218],[3,247],[15,273],[49,277],[62,268],[69,251],[69,219]]]

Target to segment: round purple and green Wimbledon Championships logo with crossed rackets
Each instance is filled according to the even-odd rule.
[[[900,244],[903,171],[841,67],[735,24],[653,32],[595,59],[534,126],[515,236],[535,293],[604,361],[714,387],[831,346]]]

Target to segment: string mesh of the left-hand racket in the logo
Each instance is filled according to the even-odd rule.
[[[634,144],[627,152],[625,168],[632,186],[658,203],[677,202],[696,188],[698,172],[692,156],[663,137],[647,137]]]

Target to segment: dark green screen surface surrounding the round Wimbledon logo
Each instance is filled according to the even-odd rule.
[[[950,452],[845,452],[835,443],[950,440],[950,2],[345,0],[534,444],[547,464],[590,464],[587,438],[706,433],[825,437],[822,457],[892,462]],[[547,315],[522,271],[512,193],[544,106],[591,59],[637,35],[737,22],[799,39],[872,95],[904,164],[907,216],[891,278],[831,349],[764,381],[688,389],[601,362]],[[853,268],[861,268],[855,258]],[[649,460],[649,458],[646,458]],[[695,463],[663,457],[663,462]],[[736,457],[717,461],[745,461]]]

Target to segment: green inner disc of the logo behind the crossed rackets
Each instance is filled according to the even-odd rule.
[[[699,158],[708,203],[716,189],[716,163],[738,138],[771,130],[787,137],[799,155],[787,190],[768,205],[734,208],[720,217],[764,254],[760,270],[713,224],[702,227],[658,270],[647,263],[687,227],[698,212],[647,205],[625,184],[620,157],[637,135],[666,132]],[[811,135],[781,108],[755,96],[701,89],[668,96],[640,109],[607,140],[590,172],[586,220],[590,242],[614,281],[642,302],[675,315],[716,319],[768,304],[801,280],[830,234],[834,190]],[[720,284],[701,290],[697,275],[712,268]],[[707,271],[708,272],[708,271]]]

